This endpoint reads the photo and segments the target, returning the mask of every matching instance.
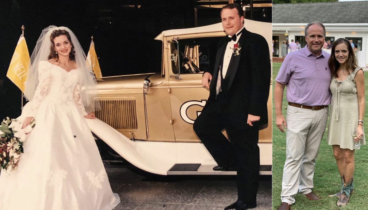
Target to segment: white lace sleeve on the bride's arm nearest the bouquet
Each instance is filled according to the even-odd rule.
[[[47,93],[47,88],[49,87],[51,72],[49,69],[43,67],[43,65],[39,65],[38,69],[38,85],[35,91],[35,95],[33,96],[31,108],[26,113],[27,117],[36,117],[38,108],[45,98]]]

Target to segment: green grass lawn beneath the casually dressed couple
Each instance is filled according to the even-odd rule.
[[[273,87],[281,64],[273,63]],[[368,72],[364,74],[368,78]],[[368,99],[368,82],[365,80],[365,98]],[[286,88],[285,88],[286,90]],[[286,92],[286,91],[285,91]],[[283,98],[283,114],[286,116],[287,101],[286,93]],[[275,109],[275,107],[273,107]],[[364,121],[368,124],[368,100],[365,103]],[[277,210],[281,204],[280,193],[282,184],[282,173],[285,163],[286,134],[281,133],[276,127],[275,110],[273,110],[272,120],[272,209]],[[328,127],[328,124],[327,124]],[[304,195],[298,193],[292,210],[367,210],[368,209],[368,146],[362,145],[361,149],[355,152],[355,172],[354,172],[354,193],[351,194],[349,203],[344,207],[337,207],[337,198],[330,198],[328,195],[334,194],[341,189],[340,174],[337,170],[336,161],[333,157],[332,146],[326,142],[327,127],[321,142],[321,147],[316,159],[314,173],[313,192],[321,198],[318,201],[309,201]],[[366,126],[365,126],[366,127]],[[367,133],[367,132],[365,132]],[[368,139],[367,139],[368,140]]]

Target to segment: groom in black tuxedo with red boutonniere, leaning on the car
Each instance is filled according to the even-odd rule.
[[[217,46],[214,70],[203,74],[202,84],[210,95],[193,128],[218,164],[213,170],[227,171],[236,166],[238,200],[225,210],[244,210],[257,204],[257,142],[260,126],[268,122],[269,48],[262,36],[243,28],[239,5],[224,6],[220,15],[229,36]],[[221,133],[223,129],[230,141]]]

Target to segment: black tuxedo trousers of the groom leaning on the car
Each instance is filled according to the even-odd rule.
[[[223,116],[224,109],[226,104],[216,99],[209,100],[193,128],[219,166],[236,163],[238,200],[256,205],[259,185],[258,127],[236,128]],[[222,134],[224,129],[229,140]]]

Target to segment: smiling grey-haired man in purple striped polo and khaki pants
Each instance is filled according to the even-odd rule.
[[[326,129],[331,73],[330,54],[322,51],[326,30],[321,22],[305,26],[307,46],[287,54],[276,77],[276,126],[286,131],[286,161],[282,179],[282,204],[289,210],[299,192],[309,200],[319,200],[312,192],[315,159]],[[282,114],[282,98],[286,88],[286,120]]]

